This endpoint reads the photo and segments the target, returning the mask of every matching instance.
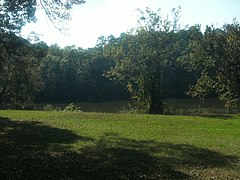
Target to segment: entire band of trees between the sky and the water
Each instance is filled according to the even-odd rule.
[[[240,25],[180,27],[179,9],[163,19],[139,11],[139,26],[96,46],[48,46],[0,30],[1,107],[33,103],[131,99],[148,113],[163,113],[165,98],[207,97],[240,106]]]

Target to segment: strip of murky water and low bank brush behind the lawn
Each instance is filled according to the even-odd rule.
[[[79,111],[79,112],[104,112],[123,114],[147,114],[129,101],[102,102],[102,103],[70,103],[70,104],[28,104],[16,107],[2,106],[0,109],[25,109],[44,111]],[[238,114],[240,109],[226,109],[216,99],[206,99],[206,104],[199,107],[196,99],[166,99],[164,100],[164,115],[219,115]]]

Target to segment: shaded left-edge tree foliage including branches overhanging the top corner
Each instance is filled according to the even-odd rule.
[[[11,104],[30,102],[40,89],[39,66],[47,53],[44,43],[32,45],[16,34],[36,21],[42,8],[59,30],[64,30],[70,10],[84,0],[2,0],[0,1],[0,101]]]

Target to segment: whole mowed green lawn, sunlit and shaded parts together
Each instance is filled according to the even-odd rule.
[[[239,179],[240,115],[0,111],[1,179]]]

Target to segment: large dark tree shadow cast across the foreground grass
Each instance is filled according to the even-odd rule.
[[[69,149],[76,141],[94,146]],[[39,122],[0,118],[1,179],[189,179],[193,168],[231,168],[237,160],[191,145],[114,133],[94,140]]]

